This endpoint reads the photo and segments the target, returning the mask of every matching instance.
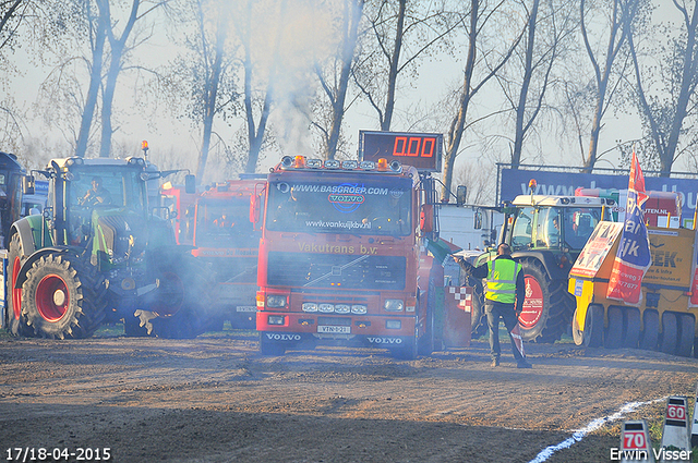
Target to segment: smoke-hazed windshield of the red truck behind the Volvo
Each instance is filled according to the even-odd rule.
[[[250,222],[249,196],[198,202],[195,246],[257,247],[258,242]]]

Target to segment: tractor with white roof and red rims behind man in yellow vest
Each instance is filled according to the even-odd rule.
[[[616,202],[589,196],[521,195],[501,209],[504,226],[498,243],[512,246],[512,257],[525,272],[526,300],[519,316],[526,341],[554,342],[566,332],[575,310],[567,292],[569,270],[597,223],[611,218]],[[474,267],[496,257],[496,249],[464,256]],[[473,287],[472,334],[486,331],[482,282],[468,277]]]

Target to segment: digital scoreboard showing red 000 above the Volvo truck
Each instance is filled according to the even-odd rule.
[[[436,133],[359,131],[359,158],[397,160],[420,171],[441,172],[444,136]]]

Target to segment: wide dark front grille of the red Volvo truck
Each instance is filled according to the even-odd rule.
[[[404,290],[405,257],[269,253],[270,285],[333,290]]]

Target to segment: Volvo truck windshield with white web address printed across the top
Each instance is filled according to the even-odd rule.
[[[412,180],[362,176],[270,180],[265,227],[305,233],[410,235],[414,229]]]

